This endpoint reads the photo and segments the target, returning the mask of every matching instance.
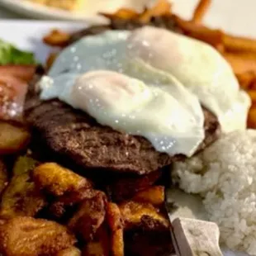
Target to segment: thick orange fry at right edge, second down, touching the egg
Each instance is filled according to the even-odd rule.
[[[256,55],[251,53],[224,53],[234,73],[256,72]]]

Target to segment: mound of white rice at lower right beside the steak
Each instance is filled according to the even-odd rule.
[[[173,181],[203,197],[220,242],[256,255],[256,130],[223,135],[201,154],[173,166]]]

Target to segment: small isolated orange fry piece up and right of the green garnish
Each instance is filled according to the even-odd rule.
[[[43,40],[46,45],[64,47],[68,45],[69,39],[69,33],[55,29],[46,35]]]

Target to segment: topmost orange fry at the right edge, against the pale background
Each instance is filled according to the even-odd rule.
[[[256,40],[230,35],[224,35],[223,40],[225,49],[228,51],[248,51],[251,53],[256,52]]]

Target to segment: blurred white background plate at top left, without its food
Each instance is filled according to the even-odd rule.
[[[120,7],[131,7],[141,10],[148,0],[84,0],[88,2],[84,10],[68,12],[53,7],[45,7],[38,3],[26,0],[0,0],[0,5],[12,12],[25,17],[36,19],[58,19],[69,21],[87,21],[89,23],[102,23],[107,20],[97,15],[97,12],[115,12]],[[97,4],[95,4],[97,2]]]

